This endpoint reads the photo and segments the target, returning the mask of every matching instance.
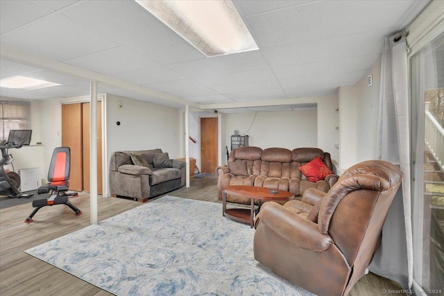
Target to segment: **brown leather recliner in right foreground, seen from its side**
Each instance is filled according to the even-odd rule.
[[[327,193],[266,202],[255,220],[255,259],[312,293],[347,295],[373,259],[401,178],[393,164],[366,161]]]

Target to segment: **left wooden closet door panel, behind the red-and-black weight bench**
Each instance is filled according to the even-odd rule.
[[[71,148],[69,189],[83,191],[82,176],[82,105],[62,105],[62,146]]]

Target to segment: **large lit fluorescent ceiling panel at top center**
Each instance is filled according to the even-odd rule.
[[[230,0],[135,0],[207,57],[259,49]]]

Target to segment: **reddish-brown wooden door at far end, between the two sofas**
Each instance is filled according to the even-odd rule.
[[[214,174],[217,167],[217,117],[200,119],[200,172]]]

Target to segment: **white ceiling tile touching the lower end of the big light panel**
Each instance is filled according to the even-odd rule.
[[[220,55],[189,62],[170,64],[169,67],[189,78],[214,76],[268,67],[260,51],[248,51],[233,55]]]

